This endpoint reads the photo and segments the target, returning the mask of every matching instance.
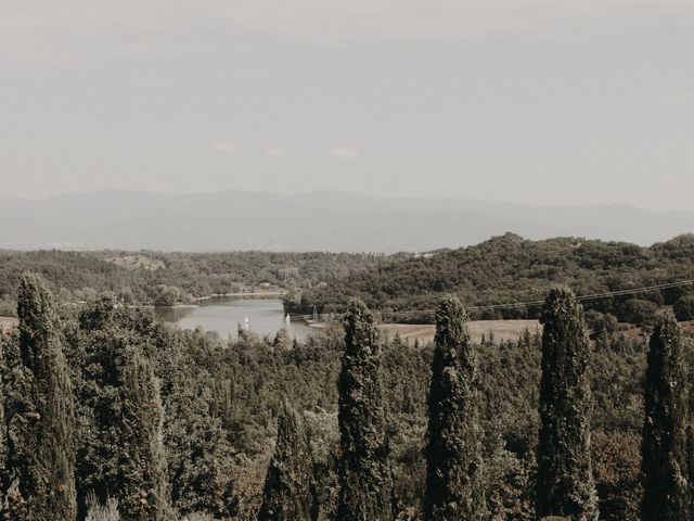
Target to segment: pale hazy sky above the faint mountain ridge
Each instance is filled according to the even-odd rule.
[[[0,195],[694,209],[694,2],[0,0]]]

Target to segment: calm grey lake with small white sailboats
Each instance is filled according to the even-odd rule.
[[[249,329],[260,336],[274,334],[285,328],[282,301],[275,298],[215,297],[203,301],[198,307],[155,308],[156,316],[166,322],[178,323],[183,329],[201,326],[217,331],[222,338],[237,336],[239,325],[248,317]],[[303,322],[291,322],[290,338],[306,340],[316,330]]]

